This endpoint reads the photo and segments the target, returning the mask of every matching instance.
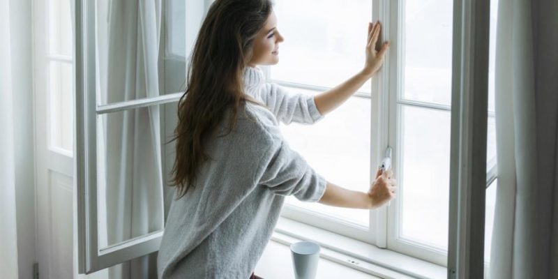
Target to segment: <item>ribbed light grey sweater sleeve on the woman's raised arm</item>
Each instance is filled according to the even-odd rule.
[[[266,84],[265,89],[262,100],[277,119],[285,124],[292,121],[312,124],[324,118],[316,107],[314,96],[290,93],[274,83]]]

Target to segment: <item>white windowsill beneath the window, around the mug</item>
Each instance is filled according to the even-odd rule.
[[[284,245],[289,255],[288,257],[280,257],[283,261],[287,261],[286,264],[283,263],[283,266],[289,266],[289,268],[279,269],[284,274],[281,274],[278,278],[291,278],[293,276],[289,245],[301,240],[316,241],[322,247],[319,266],[325,270],[319,270],[318,273],[345,274],[359,271],[364,276],[362,278],[375,278],[374,276],[380,278],[446,278],[447,276],[444,266],[425,262],[392,250],[377,248],[371,244],[350,239],[347,236],[283,217],[279,219],[271,240],[273,243],[270,242],[268,245],[270,247],[266,247],[266,250],[278,249],[277,243],[280,243]],[[265,252],[262,259],[264,257],[266,257]],[[266,277],[266,270],[277,272],[278,269],[265,266],[265,263],[266,261],[262,260],[262,264],[258,264],[256,273],[258,275],[262,274],[259,276],[264,278],[271,278],[269,276],[271,273],[267,273],[268,276]],[[274,273],[274,276],[277,276],[277,274]]]

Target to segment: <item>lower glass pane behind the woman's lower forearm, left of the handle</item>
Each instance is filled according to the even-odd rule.
[[[292,149],[327,181],[362,192],[370,188],[370,100],[349,98],[345,104],[312,126],[281,124]],[[332,132],[334,131],[334,132]],[[368,227],[368,210],[343,209],[319,203],[287,202]]]

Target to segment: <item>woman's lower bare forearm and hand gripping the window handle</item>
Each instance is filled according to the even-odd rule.
[[[319,203],[352,209],[376,209],[395,197],[395,179],[391,178],[391,174],[382,174],[379,170],[368,193],[345,189],[328,181]]]

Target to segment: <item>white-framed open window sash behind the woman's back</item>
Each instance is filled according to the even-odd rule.
[[[74,54],[75,54],[75,70],[74,70],[74,78],[75,78],[75,183],[77,185],[76,189],[76,212],[75,215],[75,228],[77,231],[77,251],[78,251],[78,272],[79,273],[93,273],[95,271],[99,271],[102,269],[106,269],[107,267],[114,266],[116,264],[121,264],[126,262],[130,259],[135,259],[137,257],[142,257],[144,255],[148,255],[152,252],[156,252],[159,249],[160,241],[163,236],[163,225],[160,226],[160,229],[151,229],[149,232],[141,233],[141,234],[134,234],[133,237],[128,237],[127,239],[121,239],[119,241],[107,241],[107,239],[103,236],[101,237],[100,232],[110,232],[110,227],[108,227],[105,223],[105,220],[111,218],[110,214],[112,211],[99,211],[99,204],[106,206],[106,204],[110,204],[107,202],[107,193],[103,193],[103,187],[108,189],[107,183],[102,182],[98,179],[98,177],[103,177],[105,179],[105,174],[103,172],[113,171],[110,169],[110,165],[106,165],[107,162],[106,158],[103,158],[103,154],[111,156],[112,154],[106,153],[105,151],[100,152],[98,149],[103,149],[106,146],[102,144],[99,145],[99,141],[105,140],[107,141],[107,133],[103,134],[103,129],[108,130],[107,127],[110,126],[111,121],[109,119],[118,118],[119,115],[129,114],[133,115],[134,113],[142,111],[142,115],[149,115],[152,117],[154,114],[158,114],[157,116],[153,116],[149,118],[151,122],[150,124],[153,125],[144,125],[144,126],[155,126],[153,130],[157,130],[159,134],[154,136],[153,138],[160,137],[160,133],[166,135],[167,130],[172,130],[169,127],[172,125],[173,119],[172,116],[175,114],[171,114],[165,110],[165,116],[162,117],[163,114],[159,114],[159,110],[164,110],[165,104],[169,103],[176,103],[177,100],[182,96],[183,92],[176,92],[176,93],[168,93],[165,95],[158,95],[158,94],[151,94],[149,92],[153,90],[160,90],[159,92],[164,92],[165,89],[157,89],[157,86],[151,87],[151,89],[144,89],[146,90],[146,96],[142,98],[123,98],[122,100],[113,100],[110,102],[108,99],[105,101],[99,100],[98,98],[106,98],[100,97],[98,92],[99,90],[99,82],[98,82],[98,61],[99,57],[103,54],[100,54],[98,50],[97,34],[96,30],[99,23],[99,15],[98,15],[98,5],[100,1],[84,1],[84,0],[76,0],[73,1],[73,22],[74,22],[74,31],[75,31],[75,44],[74,44]],[[176,4],[185,4],[185,2],[174,1],[173,3]],[[110,3],[110,1],[107,1]],[[138,2],[140,3],[140,2]],[[162,7],[165,5],[169,5],[169,1],[161,1],[156,2],[161,4]],[[201,24],[202,17],[204,15],[204,11],[206,9],[206,4],[209,1],[203,0],[187,0],[186,1],[186,14],[182,16],[186,16],[186,33],[183,36],[186,39],[186,53],[188,54],[192,48],[192,45],[195,41],[195,36],[197,35],[197,30],[199,29],[199,25]],[[152,3],[150,3],[151,5]],[[159,6],[159,7],[161,7]],[[161,9],[161,17],[163,17],[163,22],[165,19],[165,13],[167,10],[165,8]],[[101,16],[102,20],[107,19]],[[142,20],[150,20],[142,18]],[[151,18],[153,20],[153,18]],[[110,24],[109,28],[110,28]],[[161,23],[162,27],[164,28],[164,24]],[[161,31],[164,32],[164,31]],[[151,36],[149,34],[142,34],[143,36]],[[124,40],[124,39],[122,39]],[[145,40],[145,39],[144,39]],[[164,40],[163,40],[164,41]],[[153,44],[156,45],[156,44]],[[152,47],[151,45],[142,47]],[[166,46],[157,46],[163,47],[165,50]],[[168,49],[168,47],[166,48]],[[144,50],[145,51],[145,50]],[[161,59],[159,54],[156,54],[157,59]],[[155,57],[151,56],[151,57]],[[166,57],[165,57],[166,58]],[[185,64],[183,64],[185,66]],[[153,67],[157,68],[157,67]],[[126,72],[127,73],[127,72]],[[176,80],[169,78],[169,80]],[[181,83],[183,82],[180,81]],[[175,90],[183,86],[183,84],[172,84],[172,86],[167,86],[169,90]],[[117,92],[119,93],[119,92]],[[155,96],[157,95],[157,96]],[[171,105],[172,106],[172,105]],[[149,112],[149,113],[148,113]],[[160,118],[159,118],[160,117]],[[126,117],[122,116],[122,119]],[[168,118],[168,119],[166,119]],[[166,119],[166,120],[160,120]],[[104,122],[103,122],[104,121]],[[144,119],[137,119],[137,123],[144,123],[142,122]],[[171,127],[174,128],[174,127]],[[117,130],[114,127],[112,130]],[[100,134],[99,134],[100,133]],[[124,133],[124,132],[123,132]],[[142,133],[141,129],[136,130],[135,132],[135,139],[141,139],[142,137],[140,133]],[[124,134],[123,134],[124,135]],[[140,141],[141,141],[140,140]],[[136,141],[137,142],[137,141]],[[151,146],[156,146],[156,148],[163,149],[164,142],[157,142],[157,140],[151,143]],[[99,148],[99,146],[102,146]],[[117,146],[117,145],[114,145]],[[126,145],[124,145],[126,146]],[[167,146],[168,147],[168,146]],[[166,147],[165,147],[166,148]],[[108,150],[108,149],[107,149]],[[120,150],[120,149],[115,149]],[[141,152],[141,150],[140,150]],[[156,161],[160,163],[158,165],[161,169],[163,169],[162,173],[166,173],[168,167],[167,156],[168,154],[166,150],[158,150],[155,155],[151,156],[152,161]],[[99,155],[101,154],[101,155]],[[165,163],[166,162],[166,163]],[[99,163],[101,163],[99,165]],[[105,165],[103,165],[105,164]],[[128,164],[121,163],[113,163],[118,167],[126,167]],[[166,164],[166,165],[165,165]],[[164,165],[164,167],[163,167]],[[137,172],[137,169],[136,169]],[[155,180],[158,180],[157,178]],[[166,179],[160,179],[161,183]],[[104,184],[103,184],[104,183]],[[119,184],[114,184],[118,185]],[[156,186],[159,186],[157,184]],[[164,184],[162,185],[164,186]],[[154,186],[155,187],[155,186]],[[163,199],[162,195],[158,195],[157,197],[153,197],[153,199]],[[113,203],[115,201],[112,201]],[[117,201],[116,201],[117,202]],[[156,204],[162,204],[163,201],[158,201]],[[142,204],[139,204],[137,207],[141,208]],[[165,208],[168,206],[165,206]],[[163,206],[156,206],[156,211],[163,212]],[[160,220],[156,220],[158,223],[164,223],[164,214],[160,213]],[[151,225],[151,224],[149,224]],[[108,227],[108,229],[107,229]]]

